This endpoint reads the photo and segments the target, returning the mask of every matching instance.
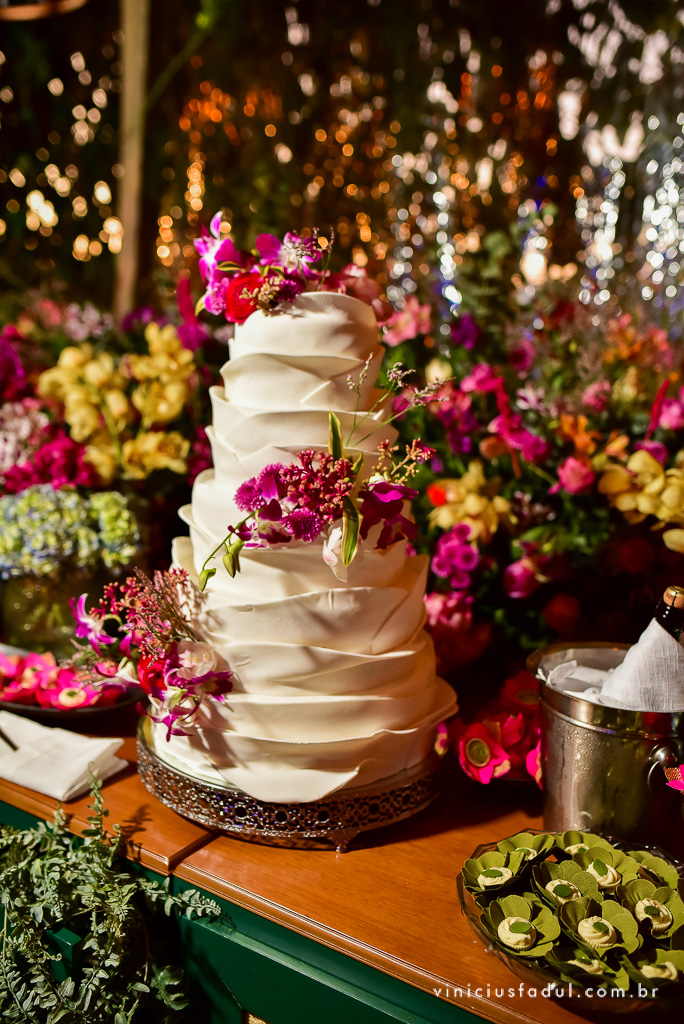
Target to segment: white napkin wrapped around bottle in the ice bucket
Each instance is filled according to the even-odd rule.
[[[684,647],[651,620],[603,684],[601,703],[634,711],[684,711]]]

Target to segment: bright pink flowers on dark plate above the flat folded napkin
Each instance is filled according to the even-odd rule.
[[[0,654],[0,701],[72,710],[110,707],[125,692],[117,683],[94,686],[52,654]]]

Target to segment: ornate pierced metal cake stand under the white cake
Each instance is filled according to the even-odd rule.
[[[372,785],[307,804],[270,804],[170,767],[149,749],[143,728],[138,730],[138,772],[158,800],[199,824],[253,843],[307,849],[332,846],[338,852],[344,852],[359,833],[422,811],[439,796],[442,774],[441,759],[435,755]]]

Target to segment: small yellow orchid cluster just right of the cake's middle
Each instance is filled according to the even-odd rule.
[[[439,480],[438,488],[444,501],[430,513],[430,522],[441,529],[451,529],[459,522],[470,526],[470,540],[488,544],[502,520],[509,520],[509,503],[497,492],[500,477],[487,479],[482,463],[477,459],[458,479]]]

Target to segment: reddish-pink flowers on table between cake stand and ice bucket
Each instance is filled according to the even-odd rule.
[[[459,763],[476,782],[513,771],[542,787],[539,683],[528,672],[507,679],[478,721],[466,725],[457,719],[452,728]]]

